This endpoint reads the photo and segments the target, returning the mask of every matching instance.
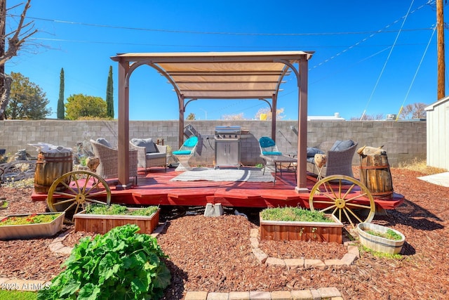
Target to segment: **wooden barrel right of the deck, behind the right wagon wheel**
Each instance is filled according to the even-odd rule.
[[[393,182],[387,155],[361,155],[360,182],[368,188],[373,197],[391,198]]]

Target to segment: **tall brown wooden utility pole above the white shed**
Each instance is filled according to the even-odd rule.
[[[445,97],[445,60],[444,60],[444,17],[443,0],[436,0],[436,44],[438,63],[437,99]]]

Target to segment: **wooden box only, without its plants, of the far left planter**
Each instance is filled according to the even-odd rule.
[[[65,212],[58,213],[43,213],[43,214],[60,214],[56,219],[50,223],[36,223],[24,225],[4,225],[0,226],[0,239],[30,239],[34,237],[51,237],[62,229]],[[11,214],[11,216],[29,216],[30,214]],[[41,214],[39,214],[41,215]]]

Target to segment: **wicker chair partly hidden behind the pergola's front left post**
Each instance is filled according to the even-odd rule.
[[[105,179],[118,178],[119,150],[93,140],[91,145],[93,154],[100,158],[96,173]],[[138,183],[138,151],[134,149],[129,150],[129,176],[135,177],[135,183]]]

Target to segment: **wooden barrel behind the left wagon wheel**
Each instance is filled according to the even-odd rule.
[[[36,193],[48,193],[53,181],[72,171],[72,164],[72,152],[39,152],[34,171],[34,191]],[[69,181],[69,178],[67,178],[67,181]],[[66,183],[69,184],[69,182]],[[56,190],[65,190],[65,186],[60,184]]]

